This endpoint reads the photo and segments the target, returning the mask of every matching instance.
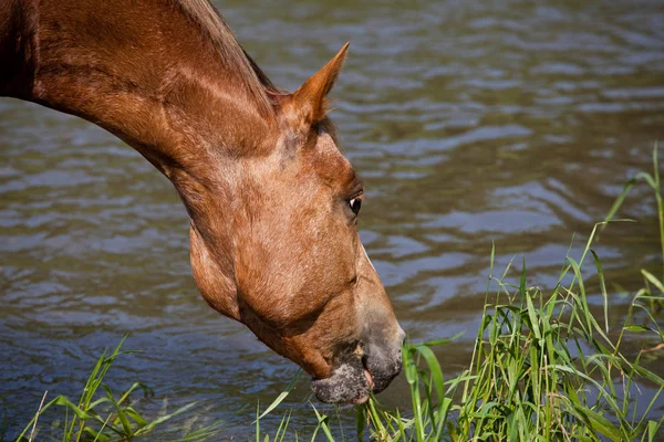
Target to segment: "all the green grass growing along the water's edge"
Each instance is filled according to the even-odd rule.
[[[621,326],[610,327],[609,293],[602,261],[593,250],[599,232],[613,220],[637,180],[655,192],[662,274],[641,270],[643,287],[631,295]],[[580,256],[568,251],[561,260],[558,284],[550,291],[527,283],[525,261],[513,260],[505,270],[494,269],[491,250],[485,307],[468,367],[446,379],[434,348],[449,340],[408,344],[403,348],[404,376],[409,386],[409,407],[388,410],[376,398],[354,408],[356,425],[343,428],[336,415],[312,407],[313,433],[301,436],[287,411],[277,430],[266,434],[261,420],[277,412],[297,378],[256,420],[248,422],[248,440],[375,441],[653,441],[663,438],[662,391],[664,379],[645,368],[646,358],[662,357],[664,334],[658,316],[664,306],[664,204],[661,194],[657,147],[653,172],[639,173],[627,182],[606,219],[592,230]],[[613,221],[612,221],[613,220]],[[620,224],[618,224],[620,227]],[[519,277],[509,281],[510,272]],[[587,276],[591,275],[591,276]],[[587,282],[599,288],[589,292]],[[598,298],[601,302],[589,302]],[[122,343],[121,343],[122,344]],[[643,350],[634,351],[634,345]],[[28,440],[38,417],[60,406],[71,420],[60,440],[134,440],[157,424],[190,410],[148,422],[131,404],[129,397],[146,387],[135,383],[114,394],[102,383],[106,370],[120,355],[120,345],[103,355],[87,380],[81,399],[64,397],[40,407],[25,427]],[[655,359],[656,360],[656,359]],[[105,396],[93,400],[102,387]],[[66,420],[66,419],[65,419]],[[218,439],[219,427],[190,434],[186,440]],[[153,433],[154,434],[154,433]],[[39,434],[38,434],[39,435]],[[37,440],[37,439],[34,439]]]

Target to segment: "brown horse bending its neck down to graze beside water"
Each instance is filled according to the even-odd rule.
[[[0,95],[95,123],[164,173],[191,219],[205,301],[328,402],[385,389],[404,338],[326,116],[346,49],[291,94],[207,0],[0,0]]]

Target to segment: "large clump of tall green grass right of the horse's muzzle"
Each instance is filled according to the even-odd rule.
[[[651,346],[664,343],[649,307],[650,301],[663,298],[640,291],[625,324],[610,333],[608,318],[598,320],[593,315],[581,275],[585,257],[592,254],[591,241],[579,262],[567,257],[550,294],[526,285],[525,265],[518,285],[506,283],[505,273],[491,276],[498,290],[492,301],[487,295],[473,360],[459,376],[444,381],[432,344],[406,346],[404,368],[413,417],[381,410],[372,400],[357,410],[370,420],[371,438],[654,440],[664,418],[652,418],[651,412],[664,380],[640,364],[642,352],[630,360],[621,343],[632,333],[650,334]],[[601,272],[599,260],[593,259]],[[566,284],[567,276],[571,281]],[[649,385],[650,394],[639,390],[641,382]],[[650,397],[641,403],[644,396]]]

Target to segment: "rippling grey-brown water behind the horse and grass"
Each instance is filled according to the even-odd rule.
[[[480,1],[219,6],[239,41],[291,90],[350,40],[335,86],[345,151],[367,200],[360,228],[412,339],[461,330],[469,359],[489,267],[523,253],[551,286],[664,135],[664,3]],[[103,348],[131,332],[108,381],[142,380],[158,410],[209,399],[200,422],[243,435],[297,368],[200,299],[188,221],[172,186],[81,119],[0,101],[0,396],[11,435],[50,397],[80,391]],[[636,189],[595,250],[621,287],[657,270],[652,197]],[[596,283],[596,282],[595,282]],[[596,284],[595,284],[596,285]],[[593,288],[593,287],[591,287]],[[595,288],[593,288],[595,290]],[[660,375],[663,368],[651,364]],[[302,381],[286,407],[311,424]],[[404,404],[403,380],[381,398]]]

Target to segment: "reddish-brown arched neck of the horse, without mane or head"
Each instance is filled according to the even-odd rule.
[[[0,6],[0,65],[10,67],[0,74],[0,94],[97,124],[176,187],[214,175],[212,159],[266,149],[272,138],[273,118],[226,64],[176,2]]]

